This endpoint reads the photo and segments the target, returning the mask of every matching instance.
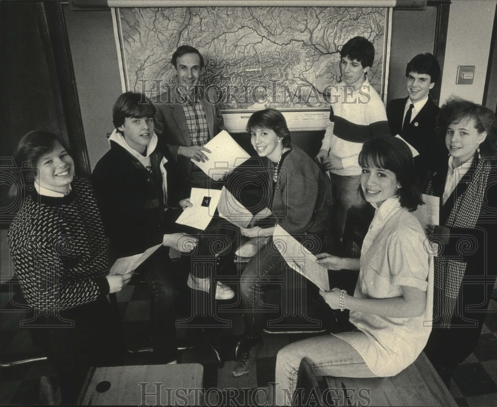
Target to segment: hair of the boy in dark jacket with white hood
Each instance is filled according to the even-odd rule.
[[[124,92],[112,108],[112,123],[117,129],[124,124],[126,117],[154,117],[156,107],[145,93]]]

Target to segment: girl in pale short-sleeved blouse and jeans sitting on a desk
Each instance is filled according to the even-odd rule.
[[[359,269],[353,297],[337,288],[321,291],[333,309],[350,310],[356,329],[294,342],[278,352],[276,404],[289,405],[304,357],[318,375],[393,376],[422,351],[430,333],[432,258],[425,236],[410,210],[421,203],[414,186],[414,161],[401,140],[364,144],[360,192],[376,213],[360,259],[319,254],[330,269]]]

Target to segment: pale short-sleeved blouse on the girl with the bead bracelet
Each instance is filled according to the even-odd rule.
[[[433,258],[424,249],[421,225],[399,198],[387,199],[371,222],[361,250],[359,279],[354,297],[395,298],[402,286],[426,291],[426,308],[420,317],[380,317],[350,312],[354,331],[336,334],[350,343],[371,371],[394,376],[417,358],[431,331],[433,309]]]

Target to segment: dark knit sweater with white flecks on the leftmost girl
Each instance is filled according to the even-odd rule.
[[[89,181],[75,177],[63,198],[26,196],[8,231],[28,305],[61,311],[109,292],[107,246]]]

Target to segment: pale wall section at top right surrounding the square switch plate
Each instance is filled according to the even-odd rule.
[[[452,0],[440,104],[450,95],[483,102],[496,0]],[[474,65],[473,84],[456,84],[457,67]]]

